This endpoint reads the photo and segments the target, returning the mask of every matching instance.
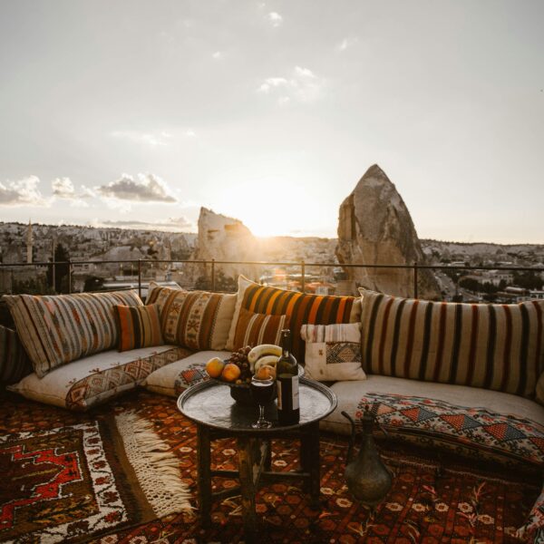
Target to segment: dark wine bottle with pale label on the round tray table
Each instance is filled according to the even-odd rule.
[[[291,353],[291,331],[281,331],[282,354],[276,364],[277,420],[280,425],[295,425],[300,418],[298,405],[298,366]]]

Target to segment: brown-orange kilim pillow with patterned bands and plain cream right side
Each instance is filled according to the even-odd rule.
[[[236,295],[155,287],[146,302],[160,306],[166,343],[195,351],[225,348]]]

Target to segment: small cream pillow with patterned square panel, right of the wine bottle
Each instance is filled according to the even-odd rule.
[[[361,366],[361,324],[302,325],[305,371],[314,380],[365,380]]]

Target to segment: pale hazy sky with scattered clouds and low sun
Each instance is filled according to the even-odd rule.
[[[0,221],[544,243],[540,0],[0,0]]]

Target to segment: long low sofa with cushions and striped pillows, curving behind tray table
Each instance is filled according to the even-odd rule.
[[[212,356],[277,343],[288,326],[306,374],[338,397],[324,430],[349,433],[341,412],[359,420],[370,406],[394,440],[518,468],[544,464],[544,301],[316,296],[245,277],[236,294],[151,285],[145,306],[132,292],[5,301],[16,327],[8,344],[17,352],[18,338],[34,369],[8,389],[36,401],[87,410],[138,386],[177,396],[206,379]],[[543,528],[541,495],[519,535],[539,541]]]

